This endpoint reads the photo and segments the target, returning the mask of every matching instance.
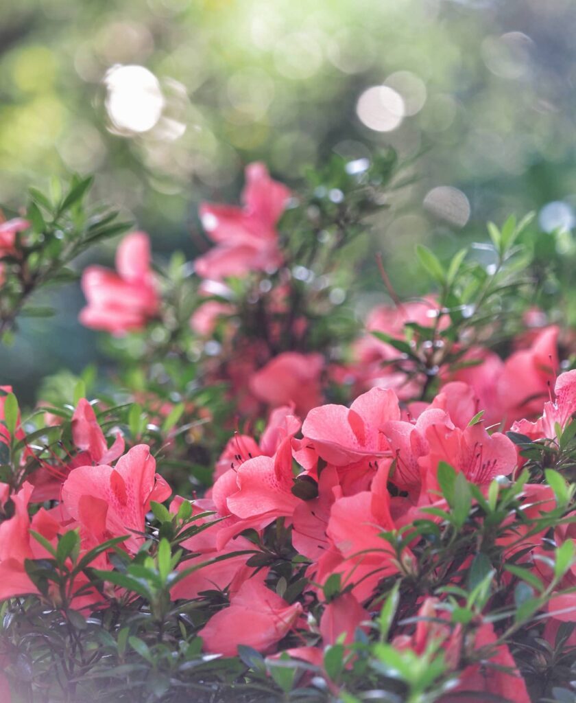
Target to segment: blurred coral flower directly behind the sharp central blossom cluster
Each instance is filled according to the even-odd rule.
[[[251,375],[249,387],[258,400],[273,408],[292,403],[296,413],[304,415],[322,402],[322,368],[321,354],[284,352]]]

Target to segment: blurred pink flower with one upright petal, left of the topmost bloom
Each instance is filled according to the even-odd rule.
[[[126,236],[116,252],[117,273],[89,266],[82,275],[88,305],[80,311],[86,327],[122,335],[155,316],[158,293],[150,268],[150,240],[143,232]]]

